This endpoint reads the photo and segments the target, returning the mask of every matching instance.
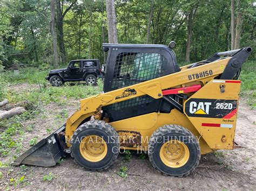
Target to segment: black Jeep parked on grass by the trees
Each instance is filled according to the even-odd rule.
[[[86,81],[86,83],[95,85],[97,77],[101,77],[102,72],[98,59],[91,60],[71,60],[68,68],[53,69],[45,77],[52,86],[61,86],[68,81]]]

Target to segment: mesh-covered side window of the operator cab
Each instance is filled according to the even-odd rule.
[[[160,77],[166,64],[167,59],[159,53],[120,53],[111,88],[118,89]]]

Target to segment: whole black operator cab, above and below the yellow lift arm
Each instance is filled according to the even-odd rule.
[[[103,49],[108,52],[103,66],[105,93],[180,71],[172,48],[165,45],[103,44]],[[133,90],[127,88],[124,94]],[[163,99],[143,95],[103,107],[103,116],[113,122],[171,109]]]

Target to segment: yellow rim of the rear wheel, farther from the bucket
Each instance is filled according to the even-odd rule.
[[[178,140],[169,140],[160,148],[161,161],[171,168],[184,166],[190,158],[187,145]]]

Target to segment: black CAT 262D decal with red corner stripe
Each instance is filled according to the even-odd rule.
[[[237,100],[191,98],[185,112],[190,117],[231,118],[237,113]]]

